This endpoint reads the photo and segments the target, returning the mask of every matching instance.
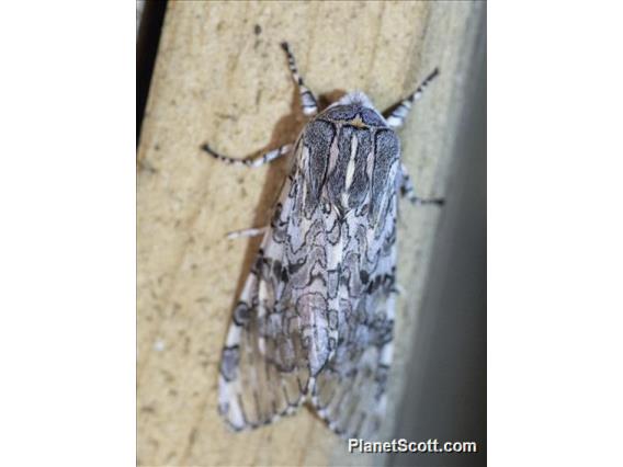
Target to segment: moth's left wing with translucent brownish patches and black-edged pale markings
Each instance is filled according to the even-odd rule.
[[[299,237],[312,238],[320,228],[315,219],[296,218],[296,197],[297,184],[288,179],[223,350],[218,405],[234,430],[293,413],[307,398],[312,374],[326,361],[322,352],[328,353],[327,342],[309,338],[327,327],[322,294],[304,283],[315,264],[303,261],[312,242],[303,241],[294,255],[288,251]]]

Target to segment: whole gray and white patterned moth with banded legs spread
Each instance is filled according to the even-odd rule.
[[[227,163],[259,167],[292,156],[292,169],[263,234],[227,333],[218,408],[236,430],[294,413],[308,402],[344,437],[370,437],[386,406],[396,294],[397,197],[414,194],[395,128],[435,69],[384,117],[362,92],[318,113],[290,70],[305,115],[294,145]]]

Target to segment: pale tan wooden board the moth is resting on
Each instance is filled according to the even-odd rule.
[[[422,196],[448,180],[464,80],[482,3],[169,2],[138,150],[137,453],[139,465],[381,465],[307,409],[273,426],[228,432],[216,411],[218,360],[257,241],[230,230],[261,226],[284,163],[239,169],[201,152],[209,141],[247,157],[293,141],[304,124],[279,43],[296,54],[325,98],[367,93],[385,109],[435,66],[441,76],[399,136]],[[440,212],[401,205],[393,436],[409,338],[426,285]]]

